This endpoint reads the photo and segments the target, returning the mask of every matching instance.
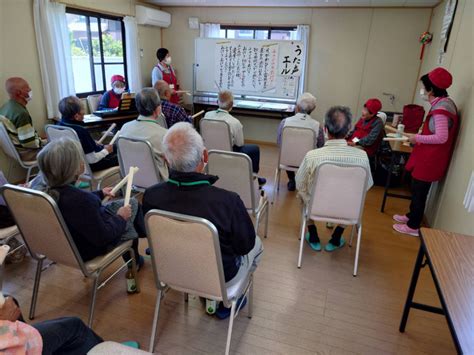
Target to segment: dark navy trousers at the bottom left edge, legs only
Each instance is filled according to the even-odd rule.
[[[44,354],[87,354],[103,340],[77,317],[57,318],[33,324],[43,339]]]

